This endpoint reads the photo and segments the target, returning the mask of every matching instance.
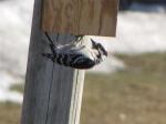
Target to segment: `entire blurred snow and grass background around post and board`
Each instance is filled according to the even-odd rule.
[[[166,123],[166,1],[121,0],[111,55],[86,73],[81,124]],[[33,0],[0,0],[0,124],[19,124]]]

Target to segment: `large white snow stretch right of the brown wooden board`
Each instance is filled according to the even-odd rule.
[[[166,51],[165,20],[166,7],[135,3],[129,11],[118,13],[117,38],[101,40],[110,41],[106,46],[116,53]]]

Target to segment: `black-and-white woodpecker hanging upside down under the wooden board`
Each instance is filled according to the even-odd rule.
[[[74,43],[55,46],[49,34],[45,33],[45,35],[50,42],[52,53],[43,53],[42,55],[51,59],[60,65],[71,66],[74,69],[91,69],[101,63],[104,56],[107,56],[107,52],[104,46],[92,39],[91,48],[85,45],[77,46]],[[81,39],[76,41],[81,41]]]

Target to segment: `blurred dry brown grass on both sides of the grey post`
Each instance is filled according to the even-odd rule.
[[[126,71],[86,75],[81,124],[165,124],[166,53],[117,56]],[[19,116],[19,105],[0,104],[0,124]]]

